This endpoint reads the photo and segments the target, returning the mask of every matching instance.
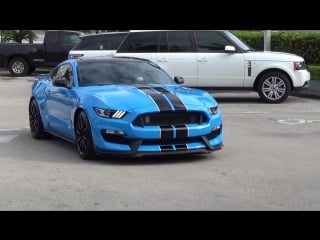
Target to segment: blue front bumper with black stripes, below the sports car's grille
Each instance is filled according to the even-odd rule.
[[[202,124],[144,127],[134,126],[125,119],[96,117],[91,122],[91,128],[95,151],[100,154],[145,156],[208,153],[223,146],[220,114]],[[125,134],[108,134],[106,130]]]

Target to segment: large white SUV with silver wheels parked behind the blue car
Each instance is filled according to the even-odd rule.
[[[255,52],[229,31],[130,31],[115,56],[152,60],[185,86],[253,90],[268,103],[283,102],[310,80],[302,57]]]

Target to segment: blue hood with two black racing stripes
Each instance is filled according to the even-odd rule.
[[[86,87],[82,92],[95,107],[126,111],[200,110],[217,104],[207,92],[179,85],[109,85]]]

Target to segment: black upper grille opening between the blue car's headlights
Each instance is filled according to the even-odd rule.
[[[134,126],[163,126],[163,125],[178,125],[178,124],[201,124],[207,119],[202,112],[159,112],[148,113],[137,117],[133,121]]]

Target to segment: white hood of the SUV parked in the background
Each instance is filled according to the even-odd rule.
[[[283,52],[248,52],[245,54],[245,60],[250,61],[281,61],[281,62],[299,62],[304,59],[298,55]]]

